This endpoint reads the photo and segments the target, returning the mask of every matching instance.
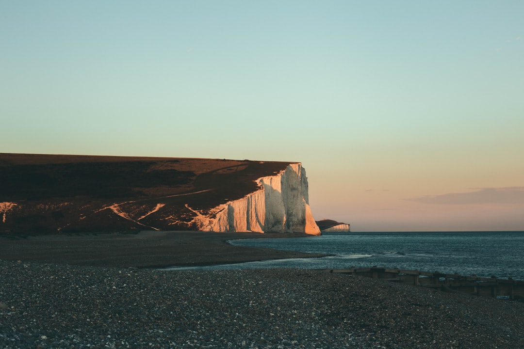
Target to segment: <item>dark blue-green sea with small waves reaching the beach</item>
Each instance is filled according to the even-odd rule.
[[[524,280],[524,231],[350,232],[229,241],[237,246],[330,254],[169,269],[388,267]]]

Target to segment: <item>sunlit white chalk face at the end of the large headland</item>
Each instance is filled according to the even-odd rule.
[[[258,178],[257,183],[256,192],[213,209],[214,219],[197,217],[201,230],[321,234],[311,214],[308,178],[300,163]]]

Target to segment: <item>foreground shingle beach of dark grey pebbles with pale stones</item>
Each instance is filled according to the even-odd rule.
[[[523,348],[524,303],[307,269],[0,261],[0,348]]]

